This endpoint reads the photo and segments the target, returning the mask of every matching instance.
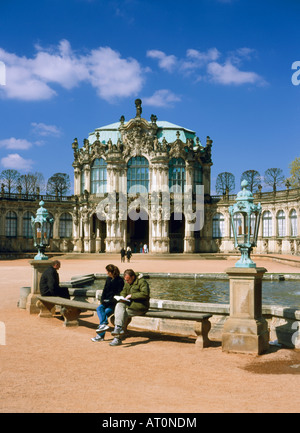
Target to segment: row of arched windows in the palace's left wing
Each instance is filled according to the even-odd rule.
[[[32,212],[25,212],[22,217],[22,234],[18,233],[18,216],[14,211],[8,211],[5,216],[5,236],[7,237],[17,237],[18,235],[23,236],[24,238],[30,239],[33,238],[32,226],[31,226],[31,217],[35,215]],[[49,217],[53,218],[51,213],[49,213]],[[61,214],[59,217],[59,237],[60,238],[69,238],[72,236],[72,215],[65,212]]]

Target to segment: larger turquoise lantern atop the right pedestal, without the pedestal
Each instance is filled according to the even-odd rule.
[[[236,203],[229,207],[234,235],[234,246],[241,252],[241,258],[235,264],[240,268],[255,268],[250,253],[257,244],[258,228],[261,217],[261,204],[253,203],[253,194],[247,189],[248,182],[243,180],[242,190],[237,194]],[[236,218],[239,224],[236,224]]]

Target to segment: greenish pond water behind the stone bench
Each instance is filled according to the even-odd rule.
[[[103,289],[104,279],[93,288]],[[208,279],[149,278],[151,298],[229,304],[229,281]],[[262,303],[300,309],[300,281],[263,281]]]

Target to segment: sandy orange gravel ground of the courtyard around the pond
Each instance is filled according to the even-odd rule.
[[[124,271],[224,272],[236,260],[162,260],[135,255],[132,263],[101,255],[61,259],[61,281]],[[299,267],[256,260],[269,272]],[[0,412],[208,413],[298,412],[300,351],[270,346],[262,356],[228,354],[221,344],[199,350],[194,339],[131,330],[121,346],[93,343],[97,318],[82,314],[65,328],[59,315],[41,319],[17,308],[19,290],[31,285],[28,259],[0,261]],[[299,283],[298,283],[299,284]],[[3,338],[2,338],[3,343]]]

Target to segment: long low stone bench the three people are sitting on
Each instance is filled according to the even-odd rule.
[[[40,310],[39,317],[52,317],[56,312],[56,305],[61,306],[61,314],[64,317],[64,326],[77,326],[80,313],[83,311],[96,311],[98,303],[75,301],[56,296],[37,296],[37,307]],[[209,321],[212,315],[208,313],[198,313],[196,311],[182,311],[170,309],[149,309],[142,317],[167,320],[189,320],[194,323],[196,333],[195,344],[199,348],[210,346],[208,333],[211,328]],[[114,323],[114,316],[110,317],[110,322]],[[126,328],[130,321],[126,324]]]

